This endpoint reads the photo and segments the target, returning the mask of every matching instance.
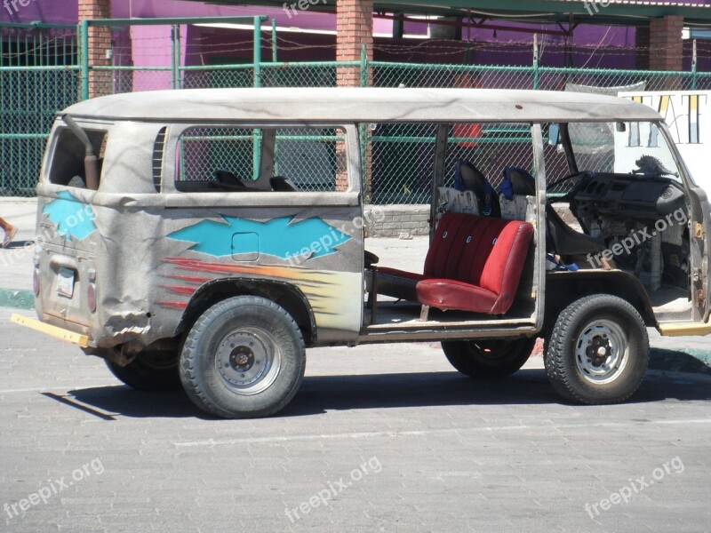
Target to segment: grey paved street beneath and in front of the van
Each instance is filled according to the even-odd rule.
[[[435,345],[327,348],[280,415],[216,420],[11,312],[7,531],[711,530],[708,383],[651,375],[632,402],[579,407],[539,358],[481,383]]]

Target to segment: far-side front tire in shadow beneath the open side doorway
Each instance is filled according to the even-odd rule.
[[[470,378],[505,378],[528,361],[536,338],[447,340],[442,349],[451,366]]]

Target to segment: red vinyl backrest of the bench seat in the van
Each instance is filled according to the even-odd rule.
[[[500,294],[507,278],[518,284],[532,235],[528,222],[444,213],[427,251],[425,277]]]

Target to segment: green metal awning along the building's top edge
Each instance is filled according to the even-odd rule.
[[[193,0],[204,1],[204,0]],[[282,8],[284,0],[212,0],[222,5],[263,5]],[[298,0],[288,0],[286,4]],[[650,19],[679,15],[689,27],[711,28],[711,5],[693,2],[653,2],[643,0],[445,0],[416,2],[413,0],[375,0],[375,12],[429,14],[475,19],[512,20],[530,23],[573,23],[595,25],[641,26]],[[335,0],[327,4],[308,3],[313,12],[335,12]]]

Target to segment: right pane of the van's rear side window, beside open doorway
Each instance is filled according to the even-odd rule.
[[[345,138],[345,132],[335,128],[278,129],[274,176],[289,180],[299,191],[345,188],[348,184]]]

